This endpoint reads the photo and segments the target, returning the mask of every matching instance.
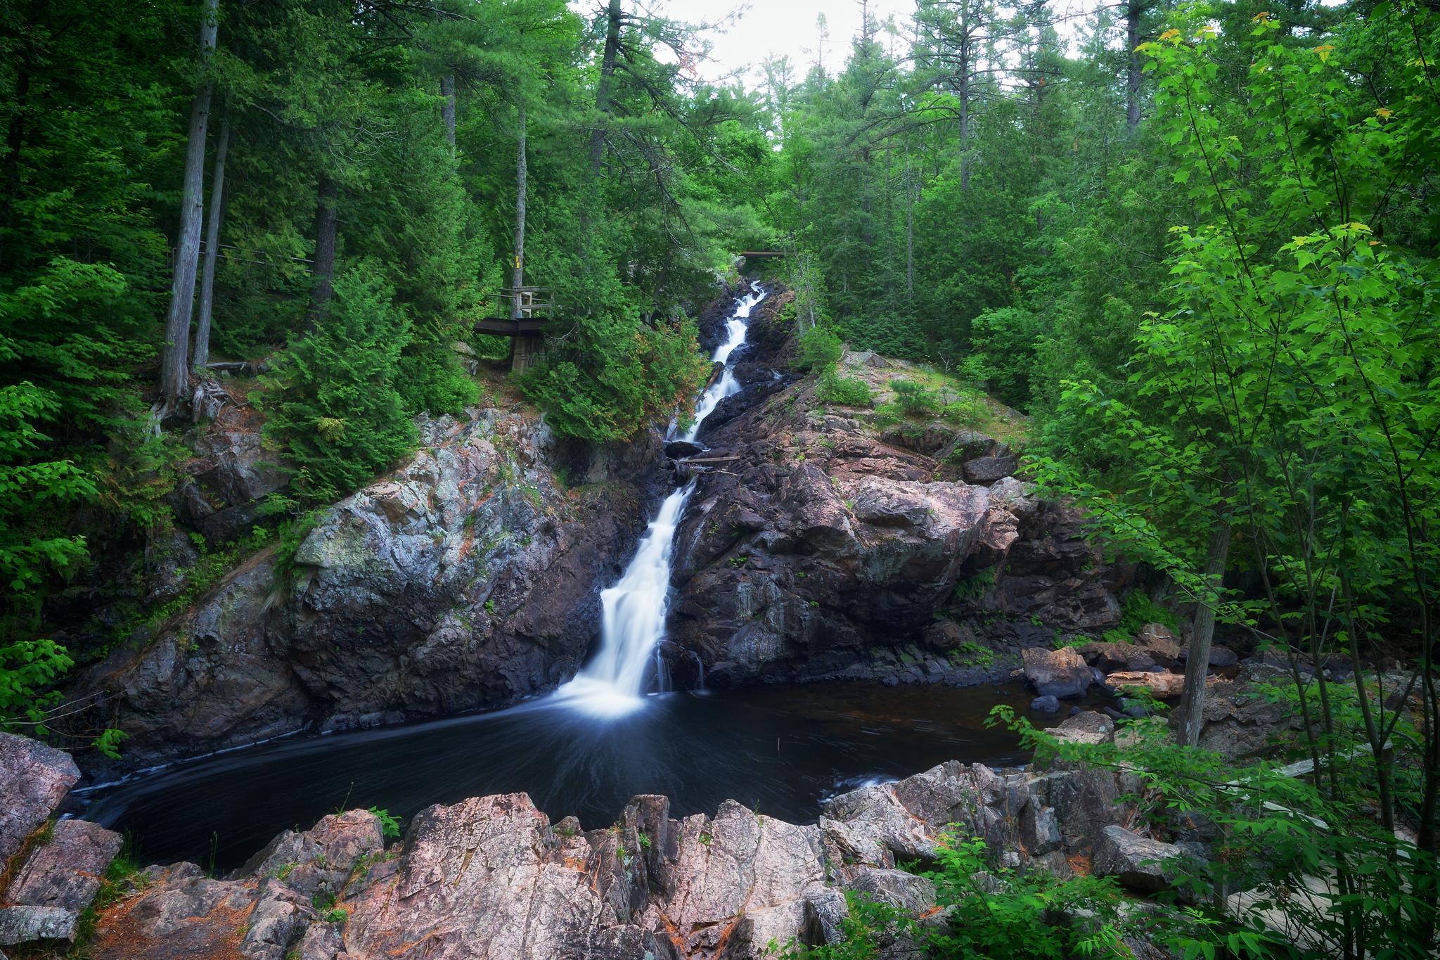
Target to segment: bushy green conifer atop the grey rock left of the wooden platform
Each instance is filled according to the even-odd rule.
[[[288,455],[295,489],[334,499],[372,479],[415,443],[396,390],[409,325],[366,265],[340,273],[323,324],[265,379],[265,438]]]

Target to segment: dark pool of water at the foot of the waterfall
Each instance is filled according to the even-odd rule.
[[[612,823],[636,793],[670,796],[674,816],[714,813],[730,797],[812,823],[825,799],[865,782],[943,760],[1024,763],[1017,738],[984,721],[996,704],[1030,715],[1031,697],[1020,685],[812,684],[667,694],[611,721],[537,701],[179,764],[95,790],[84,816],[130,833],[144,862],[219,869],[338,809],[410,818],[520,790],[552,819],[573,813],[586,828]]]

